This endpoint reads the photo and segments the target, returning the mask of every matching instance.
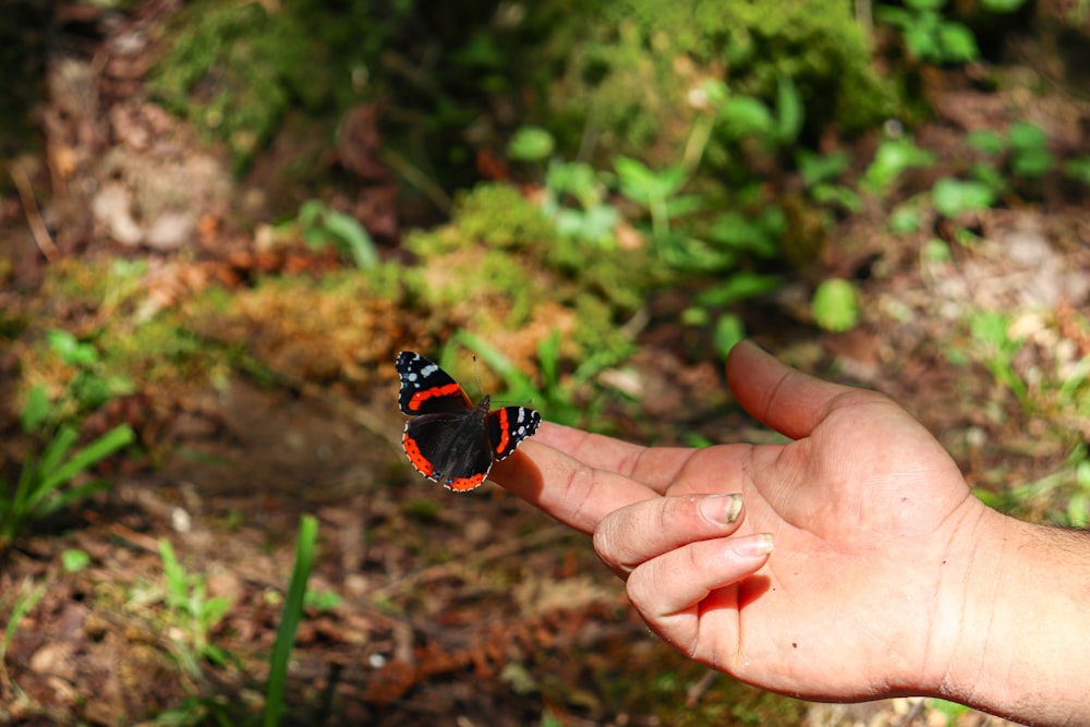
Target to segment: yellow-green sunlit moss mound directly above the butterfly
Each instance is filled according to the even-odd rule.
[[[625,350],[617,320],[643,305],[655,279],[645,251],[562,238],[506,184],[479,185],[459,199],[450,223],[403,244],[419,258],[404,272],[410,300],[423,304],[437,332],[476,331],[523,363],[554,330],[565,356]]]

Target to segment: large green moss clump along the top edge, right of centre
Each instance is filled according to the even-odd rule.
[[[812,138],[831,124],[868,129],[893,110],[892,86],[870,69],[865,40],[841,0],[567,7],[537,65],[548,74],[541,86],[550,123],[569,148],[591,129],[606,156],[678,158],[694,113],[687,94],[708,74],[768,102],[778,78],[791,78]]]

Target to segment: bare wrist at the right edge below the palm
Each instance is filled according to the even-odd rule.
[[[935,695],[1028,724],[1085,724],[1090,538],[988,508],[970,532],[946,589]]]

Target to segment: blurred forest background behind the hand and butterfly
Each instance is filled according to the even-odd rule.
[[[751,337],[1090,519],[1086,0],[0,4],[0,725],[996,725],[651,637],[393,359],[776,441]]]

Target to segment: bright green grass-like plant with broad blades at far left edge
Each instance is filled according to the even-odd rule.
[[[22,412],[23,432],[27,435],[40,433],[48,415],[46,390],[40,386],[34,387]],[[23,462],[14,488],[0,481],[0,553],[31,523],[106,489],[109,484],[102,480],[80,485],[72,485],[72,482],[102,459],[132,444],[134,435],[129,425],[122,424],[72,453],[78,438],[77,429],[62,425],[52,434],[40,455],[32,453]]]

